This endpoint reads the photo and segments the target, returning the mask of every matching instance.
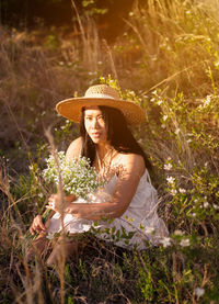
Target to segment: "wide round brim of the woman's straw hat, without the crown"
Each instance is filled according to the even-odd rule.
[[[105,105],[118,109],[123,112],[126,121],[130,125],[137,125],[145,122],[145,112],[136,103],[125,100],[104,99],[104,98],[71,98],[57,103],[57,112],[76,123],[80,122],[81,109],[83,106]]]

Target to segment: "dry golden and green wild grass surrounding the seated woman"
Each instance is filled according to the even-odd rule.
[[[219,302],[217,5],[150,0],[134,7],[113,45],[92,20],[83,40],[1,26],[0,303]],[[44,130],[66,149],[79,131],[55,104],[97,82],[119,85],[123,98],[146,110],[134,132],[153,162],[170,239],[135,252],[88,235],[58,272],[43,260],[27,264],[26,227],[49,195],[38,176],[48,155]]]

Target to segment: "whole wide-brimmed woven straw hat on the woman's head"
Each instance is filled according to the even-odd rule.
[[[131,101],[122,100],[116,90],[107,85],[90,87],[84,97],[66,99],[57,103],[56,110],[64,117],[80,122],[83,106],[105,105],[120,110],[130,125],[140,124],[145,121],[143,110]]]

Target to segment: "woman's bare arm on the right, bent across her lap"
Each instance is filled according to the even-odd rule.
[[[101,219],[103,217],[119,217],[127,210],[136,189],[145,172],[145,161],[139,155],[124,155],[118,173],[117,183],[111,202],[104,203],[64,203],[64,212],[70,213],[79,218]],[[57,211],[58,202],[55,206],[47,206]]]

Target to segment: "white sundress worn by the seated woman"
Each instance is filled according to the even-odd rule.
[[[95,194],[90,194],[90,203],[101,203],[111,200],[116,182],[117,176],[115,173],[104,185],[104,190],[100,189]],[[87,201],[78,199],[73,203],[84,202]],[[151,245],[158,245],[163,237],[169,235],[163,219],[158,216],[158,204],[157,190],[151,184],[148,170],[146,169],[128,209],[120,217],[96,222],[66,214],[64,216],[64,228],[70,234],[88,230],[96,232],[95,235],[99,238],[113,241],[120,247],[135,247],[141,250],[148,247],[147,241]],[[50,218],[47,233],[53,236],[61,229],[61,216],[59,213],[55,213]]]

